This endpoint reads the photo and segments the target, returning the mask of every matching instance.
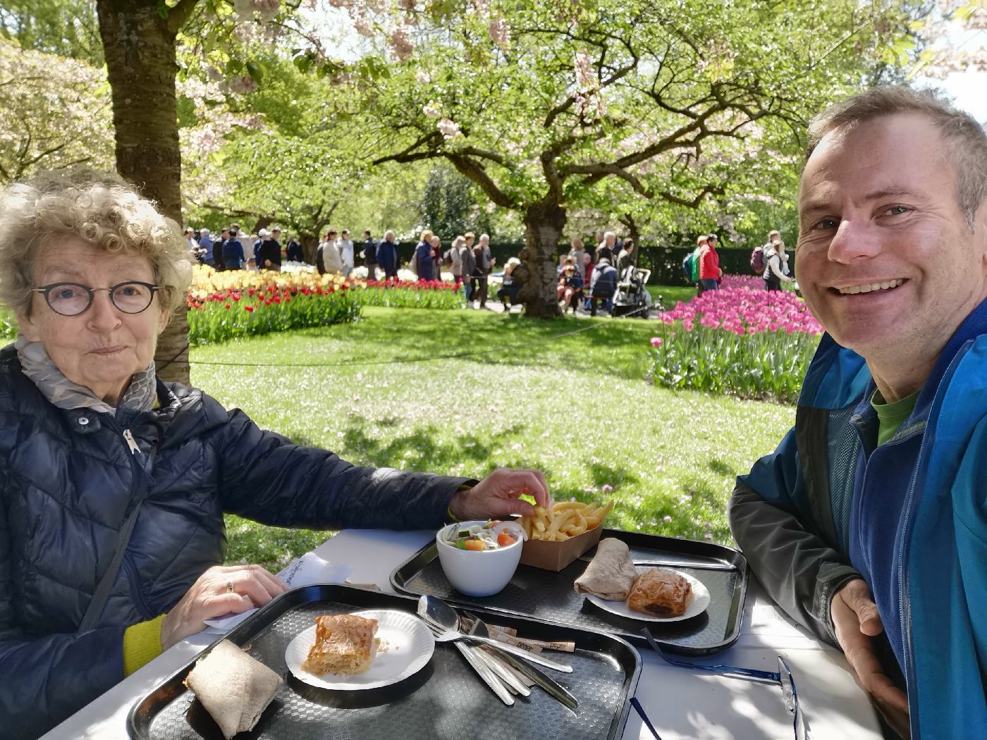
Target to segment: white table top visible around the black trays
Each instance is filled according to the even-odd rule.
[[[349,582],[375,583],[393,591],[391,571],[432,536],[346,530],[315,552],[352,564]],[[44,735],[45,740],[125,738],[130,706],[215,639],[215,634],[200,633],[180,642],[66,719]],[[641,653],[637,697],[662,740],[792,740],[792,723],[779,687],[676,668],[649,650]],[[779,654],[792,667],[812,740],[881,740],[871,703],[857,688],[839,651],[797,629],[751,581],[743,632],[730,649],[710,659],[774,671]],[[651,738],[633,710],[623,737]]]

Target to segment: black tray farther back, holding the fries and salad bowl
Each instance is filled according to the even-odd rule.
[[[735,550],[708,542],[679,540],[604,529],[602,538],[615,537],[627,543],[636,560],[688,558],[732,564],[734,570],[704,570],[677,566],[702,581],[710,589],[710,606],[703,614],[682,622],[629,620],[593,605],[575,593],[572,583],[586,569],[587,562],[575,560],[558,573],[518,565],[506,588],[484,598],[465,596],[455,590],[438,561],[434,541],[426,545],[391,573],[391,583],[401,592],[439,596],[457,604],[468,604],[502,614],[534,617],[556,625],[582,629],[604,629],[643,644],[641,629],[651,630],[654,638],[670,652],[707,655],[729,647],[740,636],[743,604],[747,595],[747,560]],[[587,555],[593,555],[595,550]]]

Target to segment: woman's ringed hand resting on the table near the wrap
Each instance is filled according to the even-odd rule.
[[[262,607],[288,587],[260,565],[214,565],[202,573],[161,623],[161,648],[167,650],[205,621]]]

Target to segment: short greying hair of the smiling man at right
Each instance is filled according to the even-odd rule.
[[[809,123],[805,159],[830,131],[895,113],[921,113],[939,128],[956,171],[959,207],[972,228],[973,214],[987,198],[987,132],[972,115],[949,106],[930,90],[877,87],[831,106]]]

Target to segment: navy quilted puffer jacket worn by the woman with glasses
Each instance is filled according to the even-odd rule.
[[[223,562],[224,511],[284,527],[437,529],[452,494],[475,482],[357,468],[196,389],[158,391],[160,409],[122,422],[59,409],[13,347],[0,350],[0,736],[37,737],[123,678],[123,631]],[[145,490],[100,624],[80,632]]]

